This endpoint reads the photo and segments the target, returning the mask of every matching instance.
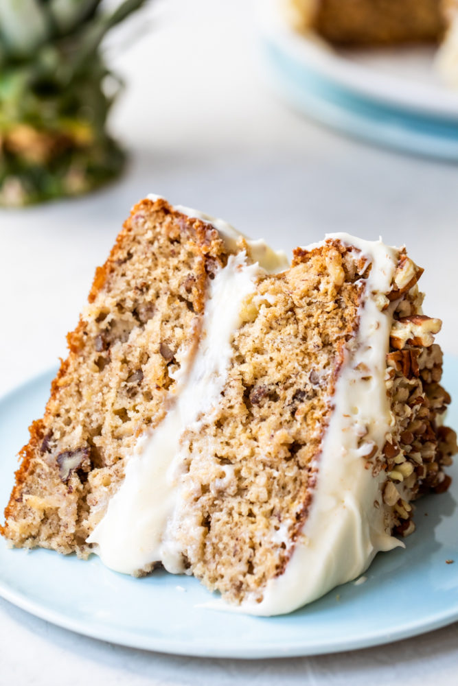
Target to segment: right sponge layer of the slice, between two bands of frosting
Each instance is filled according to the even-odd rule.
[[[300,536],[366,268],[330,244],[260,279],[220,405],[184,438],[187,501],[172,535],[189,571],[227,600],[260,600]]]

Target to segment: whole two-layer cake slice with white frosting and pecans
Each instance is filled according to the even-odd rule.
[[[404,249],[284,255],[151,197],[97,270],[2,533],[292,611],[413,532],[450,483],[439,320]]]

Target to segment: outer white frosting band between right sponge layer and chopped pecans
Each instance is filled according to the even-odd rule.
[[[355,246],[372,268],[355,346],[343,362],[332,399],[334,410],[317,458],[310,514],[286,570],[268,581],[262,602],[248,599],[229,606],[219,600],[208,607],[253,615],[288,613],[360,576],[378,551],[404,545],[385,532],[380,484],[386,475],[374,477],[364,459],[374,445],[378,451],[385,445],[392,421],[385,374],[396,303],[382,312],[376,296],[389,291],[398,251],[381,240],[363,241],[345,233],[327,238]]]

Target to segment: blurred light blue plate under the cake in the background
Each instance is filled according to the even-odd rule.
[[[458,161],[455,91],[381,75],[339,58],[286,27],[278,4],[260,0],[261,45],[268,81],[287,102],[352,137]]]

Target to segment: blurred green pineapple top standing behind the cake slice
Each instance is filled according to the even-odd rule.
[[[1,205],[78,196],[122,171],[106,129],[120,83],[100,43],[144,3],[1,0]]]

